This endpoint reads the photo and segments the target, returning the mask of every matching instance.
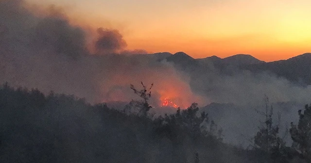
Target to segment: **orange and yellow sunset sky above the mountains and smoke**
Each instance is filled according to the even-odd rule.
[[[264,60],[311,52],[310,0],[28,0],[62,7],[91,28],[120,31],[128,49],[193,58],[251,54]]]

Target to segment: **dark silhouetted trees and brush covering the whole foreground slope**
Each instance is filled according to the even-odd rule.
[[[1,163],[310,163],[311,107],[299,112],[286,147],[265,112],[265,126],[252,148],[222,142],[222,132],[199,114],[194,103],[175,114],[152,117],[151,93],[131,87],[143,98],[141,112],[90,105],[74,96],[0,87]],[[144,94],[145,93],[145,94]],[[143,95],[144,94],[144,95]],[[146,96],[147,95],[147,96]],[[145,107],[145,108],[144,108]],[[131,107],[130,107],[131,108]],[[141,113],[141,114],[139,114]]]

